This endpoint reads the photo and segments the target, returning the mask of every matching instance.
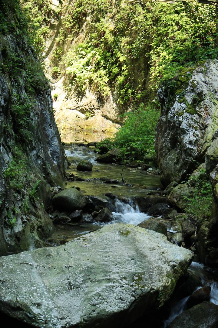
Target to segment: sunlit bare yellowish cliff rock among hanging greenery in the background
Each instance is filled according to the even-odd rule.
[[[52,8],[57,10],[59,2],[52,0],[51,3]],[[65,18],[69,15],[70,10],[74,11],[73,6],[74,2],[72,0],[64,0],[61,5],[61,18],[59,21],[54,18],[54,22],[49,25],[50,31],[46,37],[46,48],[43,53],[44,72],[52,83],[53,106],[56,112],[56,122],[61,132],[61,139],[63,141],[91,141],[91,139],[100,141],[114,135],[120,126],[119,123],[123,122],[123,118],[120,115],[127,112],[130,106],[124,106],[118,102],[116,88],[103,101],[99,101],[97,94],[91,88],[87,88],[84,94],[79,95],[79,97],[76,88],[71,90],[71,92],[66,92],[64,89],[63,80],[66,77],[66,56],[76,45],[84,42],[89,43],[90,33],[95,29],[95,16],[98,15],[97,10],[84,13],[84,17],[80,18],[78,31],[74,32],[75,35],[72,37],[71,33],[73,32],[69,31],[70,27],[66,28]],[[116,11],[114,1],[111,6]],[[111,17],[112,25],[113,17]],[[124,33],[125,36],[128,34],[130,39],[133,38],[129,31],[124,31]],[[63,38],[62,35],[65,37]],[[58,51],[61,51],[60,58],[56,56]],[[133,81],[134,88],[137,90],[140,85],[146,84],[146,89],[148,89],[148,60],[144,60],[144,55],[142,55],[142,58],[133,60],[128,58],[126,49],[119,49],[119,51],[126,56],[126,66],[129,66],[129,78]],[[55,78],[53,76],[54,67],[58,68],[60,73]],[[88,116],[85,116],[85,114]],[[89,119],[89,116],[92,117],[92,120]],[[87,117],[88,119],[86,119]],[[79,133],[80,139],[73,139],[76,133]]]

